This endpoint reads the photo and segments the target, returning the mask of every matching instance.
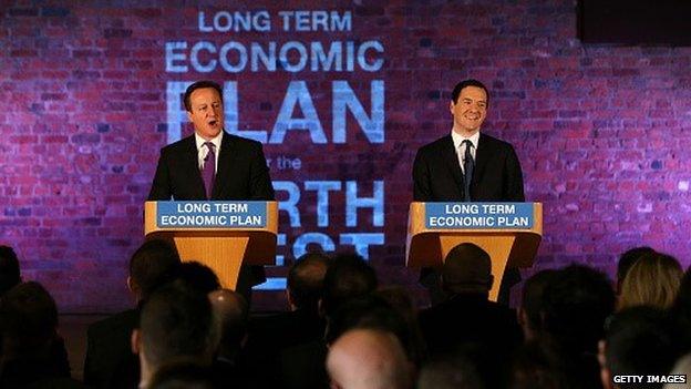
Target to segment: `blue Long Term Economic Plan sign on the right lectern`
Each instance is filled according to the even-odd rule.
[[[533,203],[426,203],[427,229],[532,229]]]

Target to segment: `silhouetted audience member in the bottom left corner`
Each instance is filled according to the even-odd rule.
[[[0,388],[81,388],[58,336],[58,307],[35,281],[16,285],[0,304]]]

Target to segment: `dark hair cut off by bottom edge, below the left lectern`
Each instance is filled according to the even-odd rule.
[[[164,364],[156,370],[149,389],[214,389],[213,371],[207,366],[182,359]]]

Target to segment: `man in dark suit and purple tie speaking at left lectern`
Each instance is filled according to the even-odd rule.
[[[149,201],[272,201],[274,186],[259,142],[224,131],[220,85],[198,81],[184,96],[195,133],[161,150]],[[237,291],[249,303],[251,287],[265,280],[264,267],[243,266]]]

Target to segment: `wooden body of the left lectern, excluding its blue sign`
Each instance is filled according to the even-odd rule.
[[[147,239],[173,242],[183,260],[197,260],[210,267],[224,288],[235,289],[240,265],[274,265],[278,234],[278,203],[266,202],[266,224],[247,227],[159,227],[157,203],[144,206],[144,235]]]

